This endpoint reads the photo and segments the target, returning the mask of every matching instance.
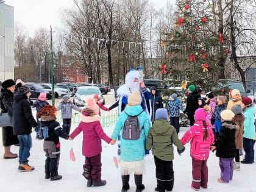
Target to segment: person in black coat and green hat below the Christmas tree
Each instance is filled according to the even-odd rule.
[[[194,124],[194,112],[199,107],[198,99],[201,98],[200,91],[196,89],[196,86],[188,86],[188,96],[187,96],[187,105],[184,113],[188,116],[190,120],[190,126]]]

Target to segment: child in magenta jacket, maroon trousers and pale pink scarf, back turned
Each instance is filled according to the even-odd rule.
[[[94,105],[96,105],[95,102]],[[73,140],[80,132],[84,134],[82,151],[85,156],[85,164],[83,165],[84,172],[82,175],[87,179],[87,187],[103,186],[107,182],[101,180],[101,140],[111,144],[115,144],[115,141],[104,133],[99,112],[93,110],[93,108],[84,108],[82,110],[81,122],[71,133],[69,140]]]

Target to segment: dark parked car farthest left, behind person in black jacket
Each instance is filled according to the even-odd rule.
[[[51,99],[52,98],[52,90],[48,88],[44,88],[41,85],[38,85],[34,82],[25,83],[27,87],[30,88],[31,96],[30,98],[38,98],[39,94],[44,92],[46,93],[46,98]]]

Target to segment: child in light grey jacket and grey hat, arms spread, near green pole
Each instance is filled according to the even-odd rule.
[[[70,127],[71,127],[71,118],[72,118],[72,108],[78,112],[80,112],[80,108],[74,105],[69,96],[63,96],[63,101],[60,102],[57,110],[62,110],[62,121],[63,121],[63,130],[69,135]]]

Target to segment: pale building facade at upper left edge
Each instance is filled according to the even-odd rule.
[[[0,0],[0,81],[14,78],[14,8]]]

